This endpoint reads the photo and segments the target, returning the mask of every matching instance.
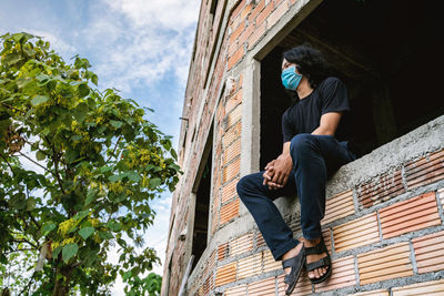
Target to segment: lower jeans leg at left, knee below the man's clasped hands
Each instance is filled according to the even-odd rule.
[[[282,218],[273,203],[280,196],[294,195],[294,177],[289,177],[282,190],[269,190],[263,185],[263,172],[246,175],[236,185],[238,194],[250,211],[265,239],[274,259],[295,247],[300,242],[293,238],[293,232]]]

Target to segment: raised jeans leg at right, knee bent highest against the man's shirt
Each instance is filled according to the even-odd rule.
[[[301,226],[305,238],[322,235],[325,214],[327,176],[353,160],[352,154],[334,136],[297,134],[291,141],[295,186],[301,203]]]

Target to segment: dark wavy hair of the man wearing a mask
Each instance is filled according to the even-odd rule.
[[[302,44],[283,53],[283,59],[295,63],[297,71],[307,78],[310,86],[316,88],[330,72],[322,53],[310,44]]]

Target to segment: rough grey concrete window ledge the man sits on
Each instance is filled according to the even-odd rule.
[[[327,183],[327,197],[345,190],[354,188],[356,185],[396,169],[405,162],[442,149],[444,149],[444,115],[342,166]],[[442,183],[443,182],[440,182],[440,184]],[[435,185],[433,185],[433,187],[435,187]],[[418,188],[418,191],[424,190],[430,188],[428,186],[423,190]],[[396,200],[393,202],[395,201]],[[275,204],[283,216],[300,211],[297,198],[294,196],[279,198],[275,201]],[[241,206],[244,207],[243,205]],[[226,224],[214,234],[196,267],[190,275],[189,283],[199,280],[211,256],[211,252],[216,251],[219,245],[229,242],[232,237],[238,237],[256,229],[256,224],[246,208],[243,208],[241,213],[243,214],[240,217]],[[396,239],[403,241],[405,237],[402,236]],[[344,253],[343,256],[350,255],[349,253]],[[218,266],[218,264],[215,266]],[[372,286],[372,288],[385,287],[383,283],[372,284],[370,286]]]

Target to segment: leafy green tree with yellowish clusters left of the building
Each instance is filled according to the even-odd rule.
[[[29,33],[1,40],[0,273],[32,252],[21,294],[105,295],[118,273],[130,290],[159,263],[137,247],[150,201],[179,180],[171,137],[133,100],[94,89],[87,59],[68,64]],[[113,245],[118,265],[107,262]]]

